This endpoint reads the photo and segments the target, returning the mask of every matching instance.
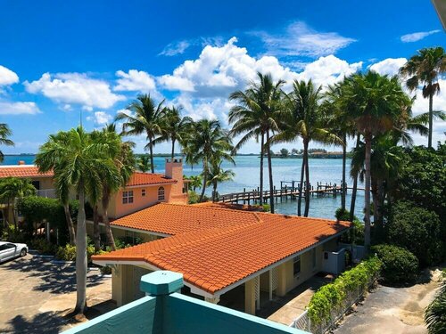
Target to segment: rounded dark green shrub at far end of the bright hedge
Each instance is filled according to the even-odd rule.
[[[406,248],[376,245],[372,252],[383,262],[383,281],[389,285],[405,285],[417,280],[418,259]]]

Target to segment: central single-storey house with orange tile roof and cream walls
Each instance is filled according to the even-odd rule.
[[[220,305],[243,299],[243,311],[255,314],[260,298],[284,296],[323,271],[326,254],[351,228],[219,207],[159,203],[111,222],[115,235],[130,232],[150,241],[92,257],[97,265],[111,265],[117,305],[144,296],[138,289],[143,275],[168,270],[183,273],[184,293]]]

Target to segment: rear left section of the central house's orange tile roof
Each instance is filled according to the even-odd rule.
[[[111,225],[175,235],[257,222],[259,217],[250,212],[159,203],[116,219]]]

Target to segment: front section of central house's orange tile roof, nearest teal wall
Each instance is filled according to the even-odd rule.
[[[200,208],[200,211],[206,209],[209,210]],[[95,256],[93,259],[111,262],[145,261],[161,270],[183,273],[185,281],[215,294],[268,265],[293,256],[351,226],[347,222],[326,219],[224,211],[227,215],[237,212],[248,221],[251,216],[256,216],[257,219],[256,222],[225,228],[185,232]],[[207,215],[210,214],[202,212],[202,215],[209,218]],[[183,221],[185,224],[188,221],[184,212]]]

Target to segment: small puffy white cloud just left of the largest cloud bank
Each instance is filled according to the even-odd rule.
[[[117,86],[113,87],[115,91],[130,91],[149,93],[156,89],[154,78],[144,70],[130,69],[128,73],[119,70],[116,76],[120,77]]]

